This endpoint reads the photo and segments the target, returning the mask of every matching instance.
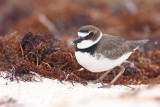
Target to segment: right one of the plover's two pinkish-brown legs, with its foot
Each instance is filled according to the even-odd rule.
[[[102,85],[100,88],[110,88],[113,83],[124,73],[125,68],[122,65],[120,66],[120,68],[121,71],[119,72],[119,74],[110,83],[108,83],[107,85]]]

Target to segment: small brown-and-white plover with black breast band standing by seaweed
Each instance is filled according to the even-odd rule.
[[[75,56],[78,63],[91,72],[105,72],[95,82],[101,82],[102,88],[111,85],[123,74],[125,68],[121,65],[139,46],[148,40],[125,40],[118,36],[102,34],[99,28],[86,25],[78,30]],[[107,85],[103,78],[116,66],[121,71]]]

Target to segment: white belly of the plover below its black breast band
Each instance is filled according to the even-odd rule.
[[[111,60],[108,58],[104,58],[103,55],[100,57],[96,56],[93,57],[89,53],[82,53],[82,52],[75,52],[76,59],[80,65],[91,72],[103,72],[109,69],[112,69],[116,66],[121,65],[130,55],[132,52],[122,55],[120,58],[116,60]]]

